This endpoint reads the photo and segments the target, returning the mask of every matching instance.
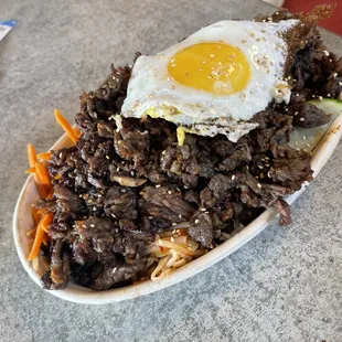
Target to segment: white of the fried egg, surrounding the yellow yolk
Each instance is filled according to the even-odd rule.
[[[288,101],[290,86],[282,79],[288,55],[284,33],[298,20],[278,23],[220,21],[205,26],[182,42],[154,56],[140,56],[132,70],[124,117],[150,115],[164,118],[186,131],[215,136],[223,133],[232,141],[257,127],[246,122],[275,99]],[[250,66],[247,86],[234,94],[217,95],[184,86],[168,75],[168,63],[179,51],[202,42],[221,42],[238,47]]]

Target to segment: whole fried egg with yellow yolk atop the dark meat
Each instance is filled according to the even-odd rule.
[[[299,20],[220,21],[132,68],[121,115],[163,118],[192,132],[236,142],[272,100],[288,103],[286,36]]]

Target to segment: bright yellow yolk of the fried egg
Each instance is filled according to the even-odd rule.
[[[179,51],[170,58],[168,73],[184,86],[217,95],[239,92],[250,78],[248,61],[241,50],[213,42]]]

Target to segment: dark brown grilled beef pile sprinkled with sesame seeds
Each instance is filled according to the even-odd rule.
[[[44,287],[63,288],[71,277],[94,290],[131,284],[156,266],[147,253],[156,234],[181,222],[205,248],[266,207],[289,224],[282,197],[312,179],[310,156],[289,147],[289,133],[292,125],[325,124],[327,115],[306,100],[338,97],[342,81],[342,60],[324,52],[317,30],[304,39],[288,74],[289,105],[258,113],[258,128],[236,143],[186,135],[179,146],[173,124],[120,117],[130,67],[113,67],[96,92],[84,93],[76,115],[83,135],[75,147],[53,151],[54,195],[36,203],[54,213]]]

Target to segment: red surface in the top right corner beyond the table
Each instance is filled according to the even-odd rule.
[[[288,9],[292,13],[298,12],[309,12],[311,11],[316,6],[322,4],[322,3],[331,3],[335,2],[338,4],[334,13],[332,17],[322,20],[319,24],[320,26],[332,31],[334,33],[338,33],[342,35],[342,0],[335,0],[335,1],[324,1],[324,0],[286,0],[284,3],[284,7]]]

